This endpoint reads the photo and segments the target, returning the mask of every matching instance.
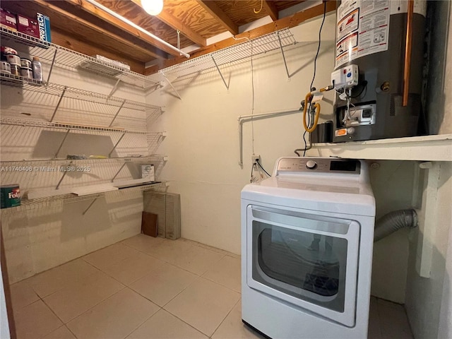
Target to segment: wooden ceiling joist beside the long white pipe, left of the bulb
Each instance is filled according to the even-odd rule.
[[[160,42],[156,39],[153,39],[153,37],[143,34],[143,32],[140,32],[136,28],[133,28],[131,25],[124,23],[124,21],[119,20],[118,18],[115,18],[114,16],[109,15],[109,13],[105,13],[104,11],[97,8],[96,6],[86,2],[84,0],[66,0],[66,2],[69,2],[75,6],[78,6],[79,8],[83,9],[83,11],[86,11],[86,12],[92,14],[93,16],[96,16],[97,18],[107,21],[108,23],[116,26],[117,28],[120,28],[121,30],[128,32],[129,34],[131,34],[135,37],[138,37],[139,39],[147,42],[148,44],[152,44],[153,46],[155,46],[159,49],[162,49],[162,51],[165,51],[168,54],[173,55],[174,57],[179,57],[179,52],[167,47],[165,44],[162,44],[162,42]],[[162,59],[162,56],[156,55],[155,57]]]

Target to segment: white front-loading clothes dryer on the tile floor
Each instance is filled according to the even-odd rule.
[[[242,190],[242,321],[270,338],[367,338],[374,221],[365,162],[278,159]]]

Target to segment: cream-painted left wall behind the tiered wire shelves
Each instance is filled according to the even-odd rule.
[[[24,52],[24,47],[17,45],[16,48]],[[43,62],[42,66],[44,77],[47,77],[49,65]],[[54,68],[50,81],[105,95],[110,93],[116,83],[114,79],[81,69],[60,68]],[[142,91],[127,85],[119,85],[114,96],[138,102],[145,101]],[[2,117],[48,121],[52,117],[57,100],[58,97],[22,92],[20,88],[2,85],[1,114]],[[40,105],[35,105],[37,102],[40,102]],[[45,107],[46,105],[48,107]],[[97,113],[93,113],[93,109]],[[31,115],[21,114],[22,112]],[[106,106],[95,109],[95,105],[90,102],[63,100],[54,121],[108,126],[116,112],[117,109]],[[143,129],[144,121],[144,113],[142,116],[136,116],[136,111],[124,109],[114,126]],[[62,140],[62,134],[64,131],[49,132],[33,127],[2,125],[1,160],[51,159]],[[107,155],[118,138],[119,136],[102,133],[73,133],[61,148],[59,157],[74,153]],[[113,156],[124,157],[131,154],[148,154],[145,136],[125,136]],[[61,188],[109,182],[120,166],[121,163],[92,165],[90,172],[66,175]],[[140,177],[138,166],[138,164],[126,165],[117,180]],[[1,184],[20,184],[21,193],[26,194],[30,189],[54,189],[61,174],[39,171],[0,172],[0,179]],[[108,194],[106,198],[95,201],[93,207],[83,215],[83,211],[91,202],[88,200],[64,205],[57,203],[26,213],[1,210],[10,282],[23,280],[140,232],[143,210],[141,192],[122,191]]]

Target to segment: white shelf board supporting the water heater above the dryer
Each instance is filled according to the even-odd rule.
[[[452,134],[314,143],[308,155],[371,160],[452,161]]]

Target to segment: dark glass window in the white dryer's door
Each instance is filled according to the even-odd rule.
[[[253,221],[253,280],[344,311],[347,239]]]

